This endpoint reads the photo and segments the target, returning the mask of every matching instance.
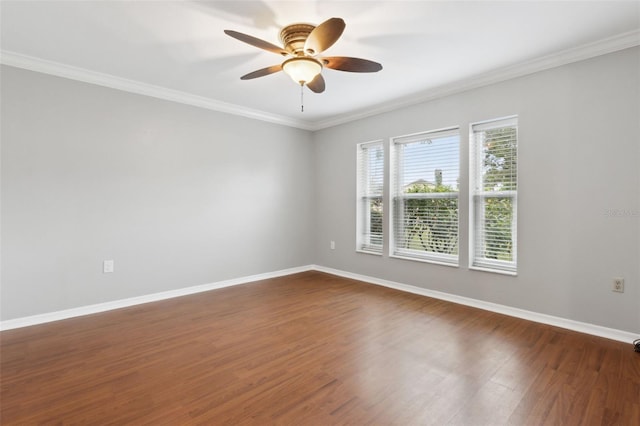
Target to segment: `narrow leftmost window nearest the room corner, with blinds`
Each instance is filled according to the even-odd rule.
[[[358,235],[359,251],[382,254],[382,192],[384,146],[382,141],[358,145]]]

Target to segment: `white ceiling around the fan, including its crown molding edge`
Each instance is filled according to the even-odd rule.
[[[322,128],[501,77],[640,44],[639,1],[11,1],[2,0],[2,62],[302,128]],[[223,33],[280,45],[280,28],[341,17],[327,56],[383,64],[325,69],[327,89]]]

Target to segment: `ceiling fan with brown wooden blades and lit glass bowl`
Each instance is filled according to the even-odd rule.
[[[322,93],[325,89],[325,81],[321,72],[325,67],[348,72],[377,72],[382,69],[382,65],[367,59],[319,56],[340,38],[344,27],[345,23],[340,18],[328,19],[317,27],[311,24],[288,25],[280,31],[280,41],[284,47],[237,31],[225,30],[224,32],[252,46],[289,57],[282,64],[245,74],[240,77],[241,80],[251,80],[284,71],[301,86],[306,85],[311,91]]]

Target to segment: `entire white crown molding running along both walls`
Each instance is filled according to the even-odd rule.
[[[445,96],[454,95],[467,90],[476,89],[483,86],[499,83],[517,77],[544,71],[550,68],[571,64],[594,58],[596,56],[617,52],[619,50],[631,48],[640,45],[640,29],[626,33],[618,34],[613,37],[605,38],[593,43],[563,50],[558,53],[546,55],[530,61],[496,69],[491,72],[483,73],[468,79],[460,80],[451,84],[434,87],[391,102],[385,102],[383,106],[374,106],[364,110],[357,111],[352,114],[341,114],[339,117],[329,118],[321,121],[304,121],[291,117],[272,114],[265,111],[251,109],[240,105],[218,101],[204,96],[197,96],[178,90],[168,89],[165,87],[154,86],[135,80],[129,80],[116,77],[110,74],[99,73],[84,68],[73,67],[58,62],[48,61],[33,56],[23,55],[16,52],[0,50],[0,63],[37,71],[45,74],[51,74],[58,77],[69,78],[72,80],[83,81],[85,83],[96,84],[99,86],[109,87],[112,89],[123,90],[140,95],[151,96],[158,99],[164,99],[172,102],[178,102],[199,108],[209,109],[228,114],[239,115],[255,120],[266,121],[269,123],[280,124],[283,126],[294,127],[303,130],[317,131],[345,124],[351,121],[360,120],[385,112],[409,107],[423,102]]]

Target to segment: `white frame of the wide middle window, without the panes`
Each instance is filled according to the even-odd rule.
[[[391,138],[391,167],[389,173],[389,180],[391,188],[391,220],[389,221],[389,232],[388,235],[391,235],[391,241],[389,244],[389,257],[405,259],[405,260],[413,260],[418,262],[426,262],[426,263],[435,263],[439,265],[445,266],[453,266],[457,267],[459,265],[459,257],[460,251],[458,250],[458,254],[445,254],[445,253],[435,253],[435,252],[426,252],[423,250],[414,250],[403,247],[398,247],[397,238],[398,238],[398,230],[395,229],[396,223],[399,221],[402,222],[401,216],[404,214],[403,203],[404,200],[407,199],[437,199],[437,198],[455,198],[457,200],[458,205],[458,247],[460,244],[460,196],[459,191],[457,192],[442,192],[442,193],[412,193],[412,194],[404,194],[400,190],[401,183],[398,182],[398,175],[400,169],[403,168],[401,163],[401,157],[399,157],[398,146],[409,144],[413,142],[422,141],[430,138],[442,138],[447,136],[457,136],[458,137],[458,167],[460,166],[461,156],[460,156],[460,128],[458,126],[455,127],[447,127],[443,129],[437,130],[429,130],[426,132],[420,132],[410,135],[404,136],[396,136]]]

